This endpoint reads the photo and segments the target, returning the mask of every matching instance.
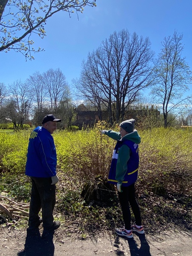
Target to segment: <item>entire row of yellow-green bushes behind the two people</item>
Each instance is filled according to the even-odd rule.
[[[58,156],[58,175],[78,184],[106,181],[115,141],[100,130],[107,127],[99,123],[86,131],[57,131],[53,134]],[[119,130],[118,126],[113,129]],[[140,168],[137,184],[139,192],[169,191],[191,194],[192,146],[190,130],[153,128],[138,131]],[[30,131],[12,134],[0,133],[0,172],[24,175]]]

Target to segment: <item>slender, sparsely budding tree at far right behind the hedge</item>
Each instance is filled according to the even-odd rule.
[[[156,103],[162,105],[165,128],[186,107],[187,100],[192,99],[192,96],[183,97],[183,93],[189,90],[187,84],[192,83],[192,72],[186,58],[182,57],[182,39],[183,35],[176,31],[164,38],[154,70],[156,85],[151,94]],[[168,116],[172,118],[168,120]]]

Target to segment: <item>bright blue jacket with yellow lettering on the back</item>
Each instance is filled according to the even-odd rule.
[[[29,138],[25,174],[32,177],[56,175],[57,155],[52,135],[38,126]]]

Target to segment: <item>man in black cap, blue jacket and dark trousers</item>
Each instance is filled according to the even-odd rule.
[[[29,207],[29,230],[38,228],[43,222],[44,231],[58,229],[60,221],[54,221],[55,184],[57,155],[51,134],[57,129],[56,119],[52,114],[44,117],[42,127],[35,128],[29,138],[26,172],[31,177],[31,201]],[[42,219],[39,212],[42,209]]]

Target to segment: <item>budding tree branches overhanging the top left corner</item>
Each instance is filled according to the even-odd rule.
[[[11,49],[21,52],[26,58],[34,59],[31,52],[39,52],[32,45],[32,34],[44,38],[44,26],[49,17],[57,12],[69,16],[84,11],[84,7],[96,6],[96,0],[0,0],[0,51]]]

